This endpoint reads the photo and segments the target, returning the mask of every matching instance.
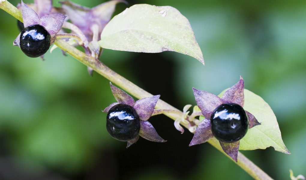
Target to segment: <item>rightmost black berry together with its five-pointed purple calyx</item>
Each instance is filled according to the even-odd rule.
[[[247,129],[260,125],[257,119],[242,108],[244,81],[229,88],[222,96],[193,88],[196,103],[205,119],[200,122],[189,146],[201,144],[216,137],[223,151],[237,162],[239,140]]]

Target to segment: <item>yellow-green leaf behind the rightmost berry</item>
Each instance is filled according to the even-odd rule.
[[[219,97],[225,91],[221,92]],[[266,149],[272,146],[276,151],[290,154],[282,141],[275,114],[260,96],[244,89],[243,108],[253,114],[261,125],[248,130],[247,134],[240,140],[239,150]]]

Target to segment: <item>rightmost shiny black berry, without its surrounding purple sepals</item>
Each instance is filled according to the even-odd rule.
[[[235,103],[221,104],[211,114],[211,131],[219,141],[239,141],[248,131],[244,109]]]

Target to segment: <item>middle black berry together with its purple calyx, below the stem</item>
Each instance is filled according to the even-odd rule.
[[[149,141],[166,142],[147,120],[151,117],[160,95],[139,99],[136,102],[127,93],[110,83],[117,103],[103,112],[107,113],[106,129],[119,141],[127,141],[127,148],[136,143],[139,136]]]

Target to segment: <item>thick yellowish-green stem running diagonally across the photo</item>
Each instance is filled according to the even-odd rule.
[[[13,17],[17,18],[18,20],[22,21],[21,12],[12,4],[7,2],[6,0],[0,0],[0,8],[5,10],[7,13],[11,14]],[[128,81],[124,77],[120,76],[107,66],[105,66],[102,62],[98,61],[97,59],[86,55],[82,51],[76,49],[75,47],[70,46],[68,43],[66,43],[62,39],[56,39],[54,44],[61,48],[63,51],[66,51],[68,54],[70,54],[72,57],[76,58],[78,61],[82,62],[84,65],[91,67],[93,70],[95,70],[97,73],[101,74],[106,79],[112,81],[113,83],[117,84],[119,87],[121,87],[126,92],[129,92],[131,95],[135,96],[138,99],[142,99],[148,96],[153,96],[152,94],[146,92],[142,88],[136,86],[132,82]],[[159,99],[157,102],[156,108],[158,109],[167,109],[167,110],[175,110],[179,111],[175,107],[171,106],[170,104],[162,101]],[[178,114],[165,114],[168,117],[172,118],[173,120],[176,120],[180,118],[180,115]],[[188,124],[181,124],[182,126],[185,126],[187,129]],[[190,126],[190,125],[189,125]],[[217,148],[220,152],[225,154],[223,152],[219,142],[213,138],[210,141],[208,141],[212,146]],[[225,154],[226,155],[226,154]],[[227,156],[227,155],[226,155]],[[228,156],[229,157],[229,156]],[[230,157],[229,157],[230,158]],[[231,159],[231,158],[230,158]],[[267,175],[263,170],[261,170],[259,167],[257,167],[252,161],[250,161],[248,158],[246,158],[241,152],[238,152],[238,166],[240,166],[244,171],[246,171],[248,174],[250,174],[254,179],[272,179],[269,175]]]

